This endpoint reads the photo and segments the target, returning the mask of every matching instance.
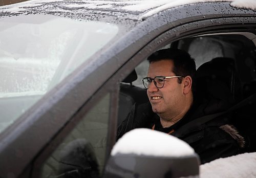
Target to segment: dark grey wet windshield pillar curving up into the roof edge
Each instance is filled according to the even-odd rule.
[[[33,8],[31,12],[37,14]],[[21,14],[23,12],[19,15]],[[61,12],[51,14],[59,15]],[[10,15],[12,14],[8,14]],[[102,88],[100,92],[103,94],[111,91],[113,100],[117,101],[118,89],[113,85],[124,79],[139,62],[163,44],[185,35],[218,28],[248,29],[250,24],[255,23],[255,15],[252,10],[236,9],[230,7],[229,3],[200,3],[170,8],[142,20],[96,14],[94,18],[89,17],[116,23],[126,29],[121,28],[118,35],[111,40],[110,46],[105,46],[100,53],[90,58],[97,59],[95,63],[81,65],[1,134],[1,176],[7,177],[12,172],[16,177],[22,173],[70,118],[77,115],[80,108],[88,108],[86,104],[89,100],[92,100],[90,104],[95,102],[94,94],[109,79],[108,87]],[[76,12],[66,17],[88,18]],[[91,79],[97,82],[89,85]],[[114,144],[116,113],[117,109],[114,109],[111,117],[114,124],[109,127],[109,137],[112,139],[109,139],[110,147],[106,154],[109,154]]]

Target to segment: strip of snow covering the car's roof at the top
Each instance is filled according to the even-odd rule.
[[[162,10],[169,8],[183,6],[193,3],[209,3],[209,2],[230,2],[232,7],[256,9],[255,0],[112,0],[112,1],[61,1],[61,0],[31,0],[29,2],[22,2],[13,5],[3,6],[0,9],[4,12],[17,13],[18,11],[26,11],[26,8],[41,6],[44,3],[56,3],[63,2],[61,8],[65,8],[64,11],[68,12],[72,8],[86,10],[104,10],[104,11],[121,11],[140,13],[138,19],[143,19],[148,16],[152,16]],[[61,8],[58,11],[63,11]],[[70,9],[71,8],[71,9]],[[51,8],[54,11],[54,8]]]

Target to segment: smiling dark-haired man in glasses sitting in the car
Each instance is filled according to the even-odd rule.
[[[194,97],[196,65],[188,53],[164,49],[152,54],[143,84],[150,103],[134,105],[121,123],[117,139],[134,128],[151,128],[187,142],[199,154],[201,163],[240,153],[244,140],[228,124],[228,116],[207,123],[189,125],[205,115]]]

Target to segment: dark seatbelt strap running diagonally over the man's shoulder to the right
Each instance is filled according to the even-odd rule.
[[[225,110],[224,112],[220,112],[220,113],[215,113],[215,114],[212,114],[212,115],[206,115],[206,116],[202,116],[200,118],[197,118],[193,121],[190,121],[186,124],[184,124],[182,127],[180,127],[179,129],[175,130],[174,136],[176,137],[181,137],[182,135],[180,135],[179,133],[184,133],[183,131],[181,130],[186,130],[186,131],[190,131],[190,130],[193,130],[195,129],[197,126],[200,126],[202,125],[203,123],[206,123],[212,119],[215,119],[221,115],[224,115],[226,113],[229,113],[229,112],[232,112],[233,110],[235,109],[239,109],[243,106],[245,106],[246,104],[248,103],[252,103],[254,102],[256,99],[256,93],[254,93],[253,95],[249,96],[248,98],[244,99],[243,101],[237,103],[236,105],[230,107],[229,109]]]

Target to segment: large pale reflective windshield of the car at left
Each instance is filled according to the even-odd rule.
[[[53,15],[0,20],[0,132],[118,32],[113,24]]]

